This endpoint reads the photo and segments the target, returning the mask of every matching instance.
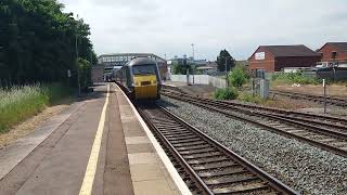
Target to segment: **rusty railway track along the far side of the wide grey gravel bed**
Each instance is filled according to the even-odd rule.
[[[163,92],[164,95],[169,98],[265,127],[275,133],[294,138],[347,157],[346,119],[214,101],[171,90],[166,92],[164,90]]]

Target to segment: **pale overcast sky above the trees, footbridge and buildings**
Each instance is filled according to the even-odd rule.
[[[346,0],[59,0],[91,27],[98,55],[246,60],[258,46],[347,41]]]

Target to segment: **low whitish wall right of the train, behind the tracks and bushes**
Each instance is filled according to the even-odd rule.
[[[170,78],[171,81],[187,82],[187,75],[171,75]],[[209,75],[190,75],[190,83],[193,83],[193,79],[195,84],[210,84],[216,88],[226,88],[224,79],[211,77]]]

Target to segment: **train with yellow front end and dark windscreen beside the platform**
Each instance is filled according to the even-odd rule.
[[[157,63],[149,57],[136,57],[115,73],[115,81],[134,101],[159,100],[162,79]]]

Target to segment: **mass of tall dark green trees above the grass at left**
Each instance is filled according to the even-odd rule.
[[[95,63],[89,25],[62,8],[56,0],[0,1],[0,86],[67,82],[67,69],[76,83],[76,35],[79,56]]]

